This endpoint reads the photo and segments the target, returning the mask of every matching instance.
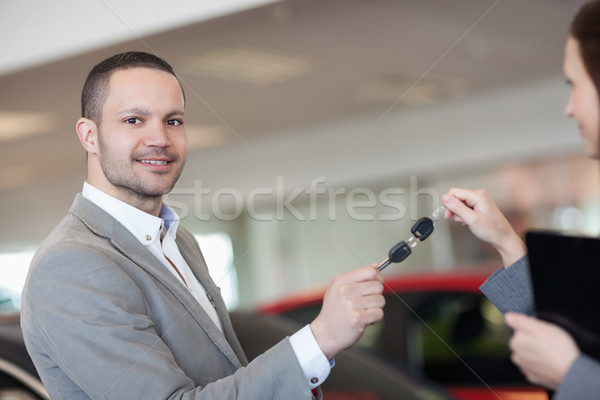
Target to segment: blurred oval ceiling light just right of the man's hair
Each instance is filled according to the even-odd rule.
[[[269,85],[307,75],[314,59],[250,46],[221,46],[197,55],[180,58],[179,70],[185,73]]]

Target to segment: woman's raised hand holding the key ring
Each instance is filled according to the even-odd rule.
[[[442,202],[445,218],[468,226],[475,236],[494,246],[506,267],[527,253],[519,235],[484,189],[452,188],[442,196]]]

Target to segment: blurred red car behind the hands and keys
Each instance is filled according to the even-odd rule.
[[[357,346],[403,374],[437,382],[463,400],[547,400],[510,361],[510,330],[481,294],[488,268],[389,277],[384,320],[370,326]],[[260,312],[309,323],[323,289],[265,304]],[[332,372],[333,374],[333,372]]]

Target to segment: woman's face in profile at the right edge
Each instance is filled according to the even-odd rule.
[[[571,96],[565,108],[569,118],[574,118],[579,133],[585,141],[587,155],[600,157],[600,104],[598,91],[585,68],[579,43],[569,38],[565,47],[564,73],[571,85]]]

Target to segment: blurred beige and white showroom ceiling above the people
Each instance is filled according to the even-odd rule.
[[[0,242],[38,240],[64,214],[85,176],[83,80],[126,50],[184,82],[183,191],[365,185],[580,147],[561,64],[581,1],[147,3],[0,2],[0,138],[2,116],[33,126],[0,141]],[[211,72],[217,53],[231,68]]]

